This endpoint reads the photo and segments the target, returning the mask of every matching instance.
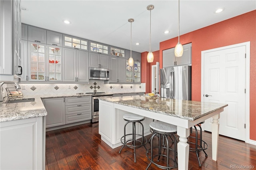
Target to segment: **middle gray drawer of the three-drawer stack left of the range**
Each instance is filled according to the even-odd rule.
[[[65,115],[92,112],[92,105],[71,105],[65,107]]]

